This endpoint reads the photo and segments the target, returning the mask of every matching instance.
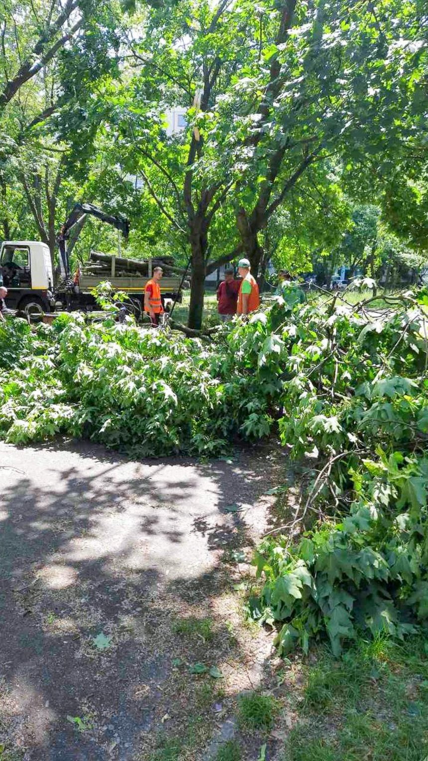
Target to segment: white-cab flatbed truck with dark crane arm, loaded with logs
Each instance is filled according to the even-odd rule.
[[[129,233],[127,219],[108,215],[92,204],[76,204],[59,231],[59,277],[55,279],[49,246],[37,240],[5,240],[0,247],[0,285],[8,288],[8,307],[22,310],[31,319],[55,310],[97,309],[92,290],[108,280],[113,288],[128,295],[129,310],[141,317],[144,288],[157,264],[165,276],[160,284],[162,298],[181,298],[182,279],[169,257],[162,260],[136,261],[122,256],[90,253],[86,266],[71,273],[67,242],[75,224],[84,215],[94,215],[112,224],[125,239]]]

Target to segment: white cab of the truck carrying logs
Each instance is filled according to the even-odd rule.
[[[10,309],[34,317],[49,312],[55,304],[49,247],[40,240],[5,240],[0,247],[0,285],[8,288]]]

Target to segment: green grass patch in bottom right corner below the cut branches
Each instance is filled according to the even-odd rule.
[[[428,757],[428,645],[361,642],[334,660],[327,651],[306,672],[300,721],[283,761],[425,761]]]

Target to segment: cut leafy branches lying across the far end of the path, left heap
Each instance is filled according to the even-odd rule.
[[[233,371],[226,337],[220,328],[204,344],[78,314],[33,330],[2,323],[0,435],[25,444],[62,433],[148,456],[220,454],[236,436],[265,435],[265,390],[258,399],[252,375]]]

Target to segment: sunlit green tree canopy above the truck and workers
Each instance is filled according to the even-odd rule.
[[[3,0],[2,10],[5,237],[39,237],[53,259],[76,200],[122,213],[132,255],[190,258],[192,326],[221,263],[248,256],[257,274],[280,252],[300,272],[314,256],[332,261],[359,205],[426,250],[422,0]],[[185,126],[170,129],[177,108]]]

